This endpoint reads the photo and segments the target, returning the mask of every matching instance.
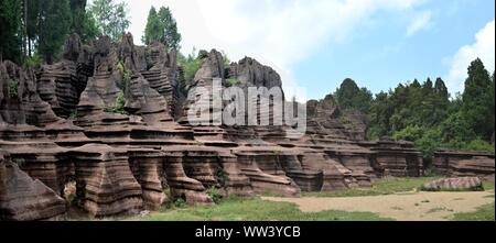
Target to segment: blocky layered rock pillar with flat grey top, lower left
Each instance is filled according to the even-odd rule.
[[[137,213],[142,208],[142,190],[126,151],[88,144],[65,155],[75,163],[77,203],[91,216]]]

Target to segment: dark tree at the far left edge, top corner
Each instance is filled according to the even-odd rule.
[[[22,47],[22,1],[0,1],[0,59],[19,62]]]

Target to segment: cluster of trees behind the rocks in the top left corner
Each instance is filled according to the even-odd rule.
[[[129,27],[125,2],[95,0],[0,0],[0,57],[26,63],[41,57],[51,64],[64,41],[77,33],[83,41],[105,33],[120,38]]]

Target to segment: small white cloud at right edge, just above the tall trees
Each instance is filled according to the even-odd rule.
[[[495,68],[495,21],[487,23],[475,35],[475,43],[462,46],[457,53],[451,57],[451,69],[448,75],[448,88],[452,93],[464,90],[467,68],[470,64],[481,58],[487,70],[490,73]]]

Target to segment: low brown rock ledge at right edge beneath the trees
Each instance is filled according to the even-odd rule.
[[[483,152],[438,151],[433,167],[439,175],[494,178],[494,154]]]

